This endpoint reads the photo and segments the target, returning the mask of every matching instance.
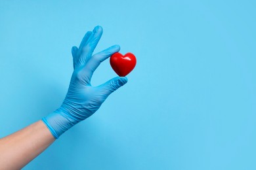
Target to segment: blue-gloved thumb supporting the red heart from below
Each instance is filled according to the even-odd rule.
[[[126,76],[117,76],[102,84],[102,90],[104,90],[104,93],[106,93],[107,95],[110,95],[112,92],[116,91],[118,88],[126,84],[127,81],[128,79]]]

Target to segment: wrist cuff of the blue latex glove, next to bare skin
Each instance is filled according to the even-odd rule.
[[[57,109],[48,116],[45,116],[42,118],[42,121],[51,131],[55,139],[58,139],[62,133],[78,123],[77,120],[70,118],[70,116],[64,113],[61,109]]]

